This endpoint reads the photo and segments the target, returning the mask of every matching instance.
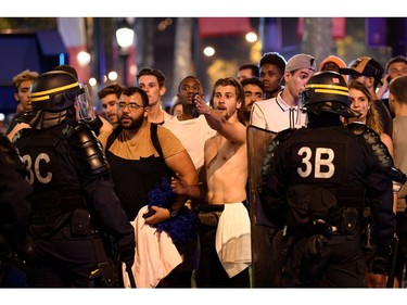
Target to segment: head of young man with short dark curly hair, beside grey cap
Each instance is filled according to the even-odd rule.
[[[265,87],[264,99],[271,99],[283,88],[285,59],[278,52],[268,52],[263,55],[259,67],[259,78]]]

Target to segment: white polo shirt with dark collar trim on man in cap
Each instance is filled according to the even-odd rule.
[[[301,128],[307,124],[307,115],[298,106],[288,105],[281,98],[255,102],[252,107],[250,124],[263,129],[279,132],[288,128]]]

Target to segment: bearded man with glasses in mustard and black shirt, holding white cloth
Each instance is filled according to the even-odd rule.
[[[145,80],[143,76],[141,79]],[[189,237],[189,233],[193,234],[192,230],[188,231],[189,228],[179,223],[186,219],[183,213],[189,212],[185,206],[188,198],[173,195],[167,191],[170,192],[169,179],[174,173],[180,173],[191,185],[198,183],[198,175],[191,157],[179,139],[169,129],[148,120],[149,103],[147,91],[140,87],[124,88],[117,104],[119,124],[113,131],[101,134],[99,140],[106,153],[116,193],[128,220],[139,228],[136,230],[137,256],[132,267],[137,287],[175,288],[185,283],[179,279],[182,274],[174,270],[182,259],[180,258],[181,262],[174,266],[171,264],[174,260],[165,260],[164,255],[173,253],[175,245],[177,245],[176,251],[183,254],[187,241],[178,242],[174,236],[170,236],[174,242],[169,245],[162,245],[165,254],[156,257],[155,247],[149,237],[153,236],[155,241],[165,240],[166,236],[160,236],[161,230],[157,230],[162,226],[175,228],[178,234],[186,237]],[[163,186],[163,192],[158,192],[156,198],[151,196],[162,181],[166,182],[164,186],[168,186],[168,189]],[[165,196],[166,192],[167,196]],[[152,203],[151,200],[154,202]],[[152,214],[142,216],[147,209]],[[149,234],[151,231],[153,234]],[[179,256],[178,253],[177,255]],[[191,285],[190,279],[189,274],[189,287]]]

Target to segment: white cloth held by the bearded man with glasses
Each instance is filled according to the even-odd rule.
[[[156,228],[145,224],[142,217],[148,206],[140,208],[136,219],[131,221],[136,234],[136,254],[132,274],[137,288],[155,288],[160,281],[182,263],[182,256],[167,232],[158,232]],[[125,288],[130,288],[126,265],[122,265]]]

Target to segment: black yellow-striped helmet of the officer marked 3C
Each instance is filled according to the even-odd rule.
[[[62,71],[43,73],[31,86],[33,110],[62,112],[71,107],[81,92],[78,80],[72,74]]]

